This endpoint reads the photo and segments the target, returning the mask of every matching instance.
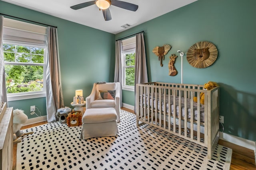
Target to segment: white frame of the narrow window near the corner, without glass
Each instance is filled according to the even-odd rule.
[[[125,57],[126,57],[126,54],[130,54],[130,53],[135,53],[135,48],[134,49],[129,49],[129,50],[126,50],[126,51],[122,51],[122,54],[121,54],[121,58],[122,58],[122,89],[123,90],[128,90],[128,91],[132,91],[134,92],[134,86],[126,86],[125,85],[125,80],[126,80],[126,75],[125,75],[125,68],[131,68],[131,67],[134,67],[135,66],[126,66],[125,65]]]

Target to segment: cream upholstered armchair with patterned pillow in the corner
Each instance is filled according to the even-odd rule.
[[[86,109],[114,107],[117,122],[120,122],[120,84],[119,82],[93,84],[90,96],[86,97]]]

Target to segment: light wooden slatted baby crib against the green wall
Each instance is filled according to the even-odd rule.
[[[203,86],[164,82],[136,84],[137,126],[147,123],[207,147],[207,156],[212,159],[219,139],[220,90],[219,87],[203,90]],[[201,92],[205,93],[204,105],[200,104],[199,97],[197,102],[193,101]]]

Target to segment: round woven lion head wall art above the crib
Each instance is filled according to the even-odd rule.
[[[218,57],[216,46],[208,41],[200,41],[188,49],[187,60],[196,68],[206,68],[212,65]]]

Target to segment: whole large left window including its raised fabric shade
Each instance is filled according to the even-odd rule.
[[[4,18],[7,100],[46,96],[47,27]]]

